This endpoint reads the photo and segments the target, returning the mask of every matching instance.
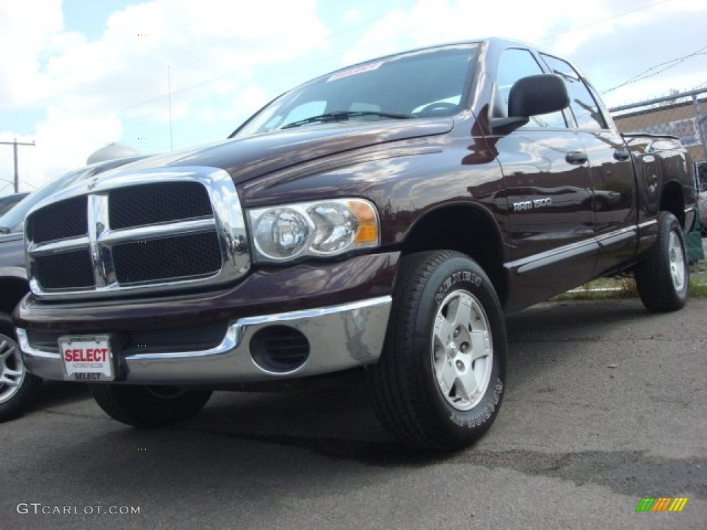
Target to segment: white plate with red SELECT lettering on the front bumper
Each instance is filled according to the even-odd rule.
[[[59,337],[64,379],[100,382],[115,379],[113,353],[107,335]]]

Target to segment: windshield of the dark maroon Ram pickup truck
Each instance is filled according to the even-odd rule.
[[[281,95],[231,137],[342,119],[451,116],[466,102],[464,88],[478,47],[424,49],[330,73]]]

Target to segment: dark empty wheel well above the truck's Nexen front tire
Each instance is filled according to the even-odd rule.
[[[402,244],[402,254],[457,250],[476,261],[489,275],[501,305],[506,302],[503,243],[491,214],[473,206],[448,206],[417,220]]]

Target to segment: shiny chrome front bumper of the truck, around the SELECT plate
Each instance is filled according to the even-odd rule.
[[[385,339],[392,298],[382,296],[312,310],[246,317],[230,322],[218,346],[204,351],[141,353],[114,352],[124,367],[116,383],[227,384],[304,377],[337,372],[378,360]],[[300,331],[310,346],[307,360],[289,372],[271,372],[252,358],[250,339],[269,326]],[[103,334],[110,330],[96,330]],[[17,329],[25,366],[44,379],[64,380],[58,351],[35,348],[27,332]],[[74,380],[74,379],[71,379]]]

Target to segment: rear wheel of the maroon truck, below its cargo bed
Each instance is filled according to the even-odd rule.
[[[658,215],[658,237],[643,261],[636,265],[636,287],[650,312],[677,311],[684,307],[690,269],[680,223],[667,211]]]

